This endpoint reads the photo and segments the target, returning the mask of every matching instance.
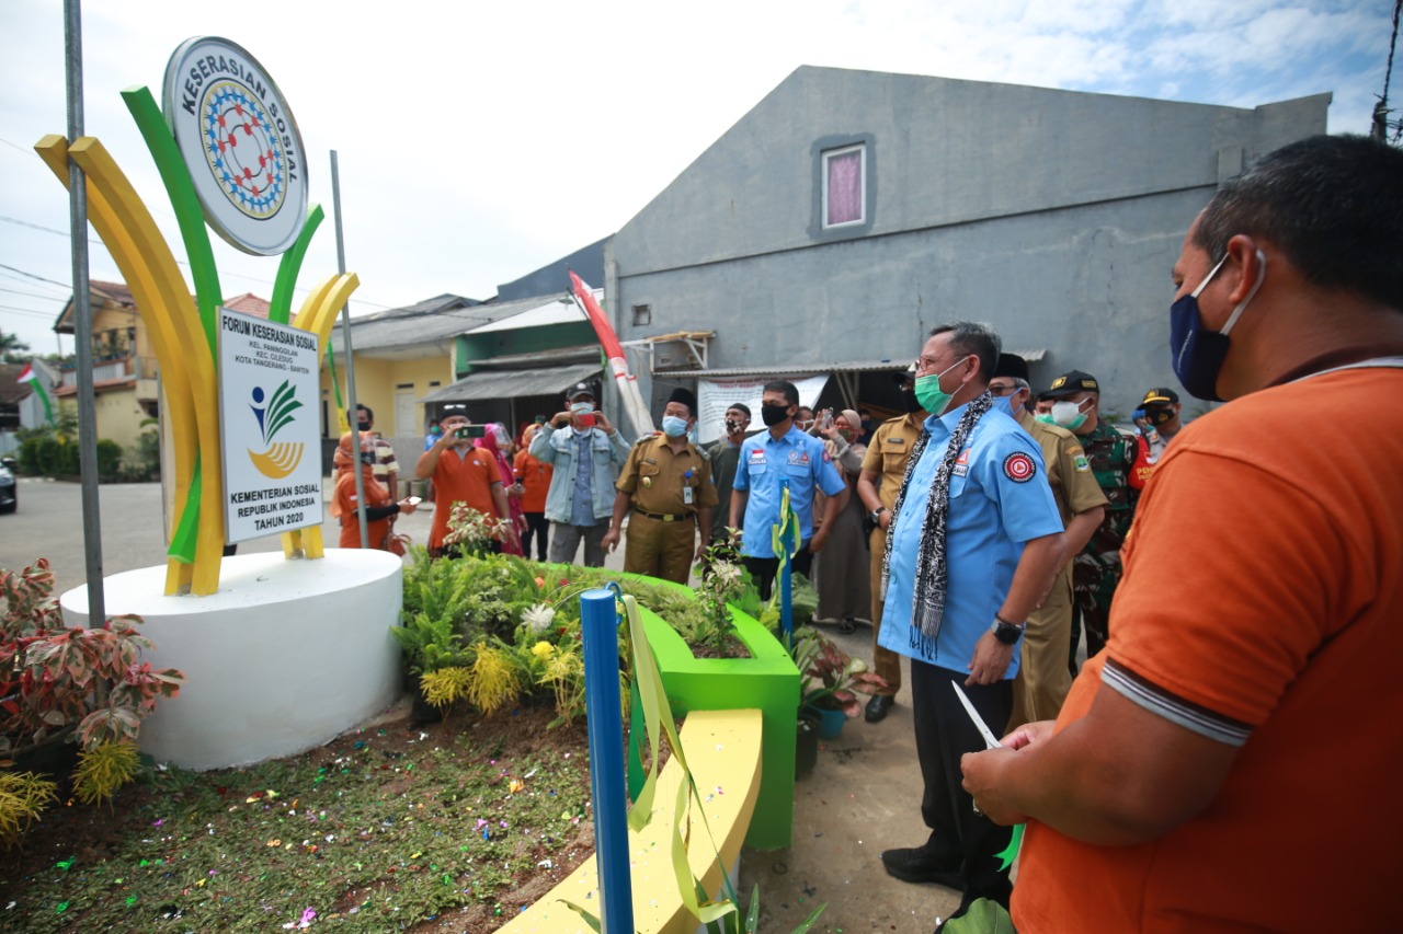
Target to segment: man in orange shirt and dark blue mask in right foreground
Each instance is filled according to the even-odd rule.
[[[1056,724],[962,762],[1028,825],[1023,934],[1397,927],[1400,257],[1403,151],[1361,136],[1266,156],[1190,229],[1174,369],[1233,404],[1156,466]]]

